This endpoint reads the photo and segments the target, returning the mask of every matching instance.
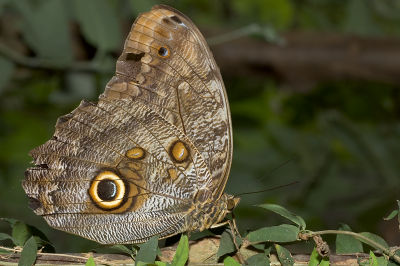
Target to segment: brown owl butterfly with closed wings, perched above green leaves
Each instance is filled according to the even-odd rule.
[[[99,243],[140,243],[220,223],[232,161],[229,105],[204,37],[179,11],[134,22],[98,102],[60,117],[23,188],[47,223]]]

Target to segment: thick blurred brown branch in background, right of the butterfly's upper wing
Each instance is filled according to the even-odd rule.
[[[295,89],[345,79],[400,85],[400,39],[303,32],[284,39],[242,38],[212,50],[225,74],[272,76]]]

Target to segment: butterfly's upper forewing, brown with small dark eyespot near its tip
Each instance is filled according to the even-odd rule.
[[[164,49],[166,57],[159,54]],[[115,83],[127,94],[116,93]],[[125,42],[116,78],[106,88],[105,95],[111,94],[131,94],[149,103],[182,130],[207,163],[213,194],[221,195],[232,156],[228,100],[218,66],[189,18],[165,6],[142,14]]]

